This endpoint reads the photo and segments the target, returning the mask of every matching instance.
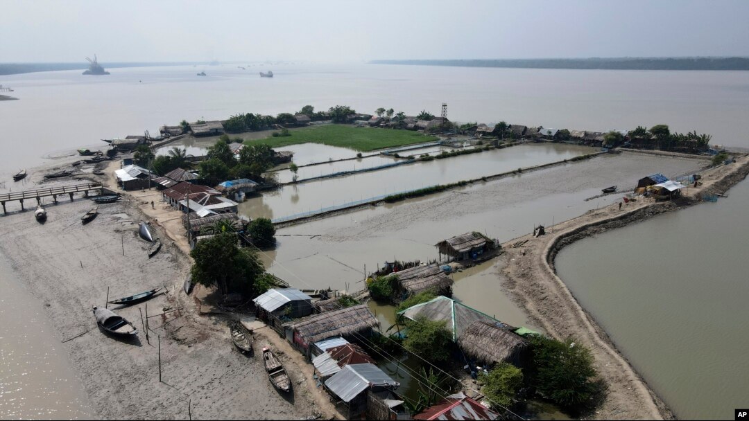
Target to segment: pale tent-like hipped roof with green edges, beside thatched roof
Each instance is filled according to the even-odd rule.
[[[398,312],[398,314],[411,320],[416,320],[419,316],[424,316],[426,319],[432,321],[444,321],[447,323],[446,327],[450,331],[454,342],[458,342],[458,339],[463,336],[470,325],[477,320],[492,324],[500,323],[499,320],[479,310],[468,307],[452,298],[441,296],[431,301],[408,307],[406,310]]]

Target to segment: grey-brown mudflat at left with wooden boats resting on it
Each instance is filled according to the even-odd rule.
[[[136,233],[142,217],[128,200],[100,205],[100,215],[82,226],[81,215],[93,206],[90,200],[76,197],[71,203],[65,197],[47,206],[49,218],[43,225],[32,212],[0,217],[0,253],[43,301],[59,340],[88,331],[62,346],[97,417],[187,419],[190,399],[196,420],[290,420],[318,411],[305,384],[297,384],[304,380],[297,374],[300,356],[286,362],[296,390],[294,398],[284,399],[270,387],[258,357],[245,357],[231,345],[227,316],[198,316],[192,298],[181,291],[187,257],[166,241],[148,259],[148,243]],[[145,304],[121,310],[110,305],[141,331],[139,342],[121,342],[100,332],[91,313],[92,304],[104,304],[108,286],[110,299],[166,286],[166,295],[148,301],[148,314],[184,310],[151,318],[154,333],[148,345],[140,316]]]

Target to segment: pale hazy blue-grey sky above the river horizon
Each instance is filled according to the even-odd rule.
[[[749,0],[0,0],[0,62],[749,56]]]

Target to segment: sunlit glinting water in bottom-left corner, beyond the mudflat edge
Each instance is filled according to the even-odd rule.
[[[0,420],[90,420],[63,345],[2,255],[0,289]]]

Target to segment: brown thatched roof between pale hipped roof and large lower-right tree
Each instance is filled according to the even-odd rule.
[[[477,320],[458,338],[458,345],[470,357],[486,363],[514,360],[527,343],[509,326]]]

